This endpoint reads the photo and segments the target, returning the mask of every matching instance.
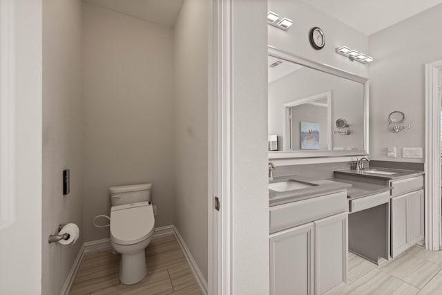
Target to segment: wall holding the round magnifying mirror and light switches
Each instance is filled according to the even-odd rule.
[[[442,59],[442,38],[429,30],[442,27],[442,5],[369,37],[370,156],[374,160],[424,162],[403,159],[405,147],[425,147],[425,63]],[[435,37],[436,36],[436,37]],[[405,113],[411,130],[387,131],[392,111]],[[387,147],[396,146],[398,158],[387,158]]]

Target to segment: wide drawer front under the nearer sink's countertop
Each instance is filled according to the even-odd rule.
[[[270,233],[348,211],[347,191],[270,207]]]

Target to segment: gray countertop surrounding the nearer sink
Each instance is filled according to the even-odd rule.
[[[311,187],[304,189],[296,189],[294,191],[272,191],[269,189],[269,206],[276,206],[278,204],[285,204],[289,202],[295,202],[305,200],[309,198],[315,198],[323,196],[326,193],[333,193],[334,191],[340,191],[352,187],[352,184],[344,182],[335,182],[332,180],[318,180],[316,178],[308,178],[302,175],[287,175],[274,178],[269,183],[282,182],[285,180],[295,180],[297,182],[307,182],[315,184]]]

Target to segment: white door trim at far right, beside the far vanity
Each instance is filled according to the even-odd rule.
[[[442,59],[425,64],[425,248],[438,251],[441,228],[441,102]]]

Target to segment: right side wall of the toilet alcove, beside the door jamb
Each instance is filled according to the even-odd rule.
[[[185,0],[175,23],[175,225],[207,280],[208,23],[204,0]]]

